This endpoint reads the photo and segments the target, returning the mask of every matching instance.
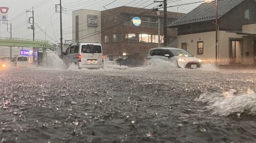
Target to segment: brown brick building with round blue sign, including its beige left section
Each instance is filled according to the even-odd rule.
[[[97,25],[89,26],[88,14],[97,13],[95,10],[76,10],[73,12],[73,41],[79,42],[100,42],[104,54],[110,59],[122,57],[126,53],[127,58],[143,63],[148,50],[158,47],[158,39],[163,43],[163,11],[158,14],[152,9],[133,8],[121,6],[104,10],[97,14]],[[87,16],[86,16],[87,15]],[[168,25],[182,17],[183,13],[168,12]],[[87,17],[87,20],[79,21],[77,17]],[[131,23],[133,17],[140,17],[141,25],[135,27]],[[160,37],[158,38],[158,17],[161,21]],[[94,21],[95,22],[95,21]],[[89,23],[89,24],[88,24]],[[86,27],[87,24],[87,27]],[[96,30],[97,28],[97,30]],[[80,29],[80,30],[78,30]],[[82,29],[82,30],[81,30]],[[86,30],[93,32],[82,33]],[[100,31],[100,32],[99,32]],[[78,33],[77,33],[78,32]],[[99,37],[91,41],[93,36]],[[168,46],[177,47],[177,30],[168,28]]]

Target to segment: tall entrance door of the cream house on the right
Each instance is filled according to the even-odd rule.
[[[230,64],[242,64],[243,61],[243,40],[230,40],[229,47]]]

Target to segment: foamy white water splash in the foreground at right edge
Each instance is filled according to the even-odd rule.
[[[241,93],[229,90],[225,93],[204,93],[195,101],[208,103],[213,115],[228,116],[234,113],[256,115],[256,94],[253,90]]]

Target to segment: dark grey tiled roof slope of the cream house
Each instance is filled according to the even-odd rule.
[[[218,1],[218,19],[225,15],[227,12],[235,8],[241,2],[246,0],[219,0]],[[210,3],[204,2],[197,8],[191,10],[191,12],[185,14],[182,18],[176,20],[170,27],[175,27],[176,25],[183,25],[189,23],[196,23],[201,21],[208,21],[216,19],[215,10],[216,1]]]

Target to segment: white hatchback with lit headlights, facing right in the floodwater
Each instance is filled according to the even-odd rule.
[[[167,60],[175,63],[178,68],[200,68],[201,60],[183,49],[173,47],[158,47],[148,52],[147,61],[151,64],[154,59]]]

